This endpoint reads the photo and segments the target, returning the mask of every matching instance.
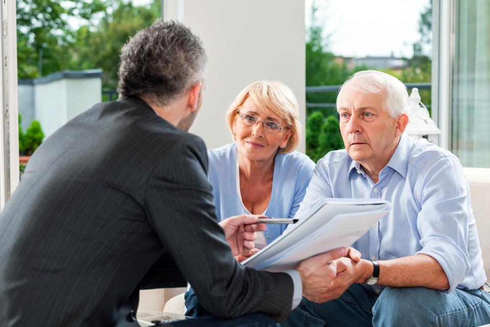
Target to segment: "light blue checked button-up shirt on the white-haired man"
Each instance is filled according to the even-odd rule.
[[[329,152],[316,164],[296,215],[305,215],[324,197],[391,202],[391,212],[352,245],[363,258],[387,260],[428,254],[444,269],[448,292],[474,290],[486,281],[470,189],[461,163],[451,152],[402,134],[378,183],[345,150]],[[376,293],[381,289],[372,287]]]

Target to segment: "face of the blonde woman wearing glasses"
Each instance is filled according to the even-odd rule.
[[[254,116],[259,120],[270,120],[283,127],[286,122],[274,112],[262,111],[249,97],[243,103],[240,114]],[[248,117],[250,118],[250,117]],[[260,121],[252,126],[247,126],[240,118],[239,114],[235,117],[233,124],[235,139],[237,142],[238,153],[241,157],[252,161],[273,160],[279,147],[285,147],[291,137],[291,130],[284,128],[278,133],[269,132],[264,128]]]

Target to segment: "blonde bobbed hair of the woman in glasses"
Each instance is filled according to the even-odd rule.
[[[279,81],[256,81],[245,86],[231,103],[226,112],[226,122],[231,135],[235,140],[233,124],[240,111],[241,106],[250,97],[262,111],[270,110],[284,119],[286,126],[292,134],[284,148],[278,153],[287,154],[293,151],[299,143],[301,125],[299,124],[299,104],[291,89]]]

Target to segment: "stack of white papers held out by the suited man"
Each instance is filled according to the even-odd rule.
[[[271,272],[294,269],[300,261],[339,247],[349,247],[390,210],[390,203],[372,199],[323,199],[260,252],[242,262]]]

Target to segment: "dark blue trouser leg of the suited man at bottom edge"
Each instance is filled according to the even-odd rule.
[[[274,321],[261,313],[252,313],[233,319],[224,319],[213,316],[197,319],[181,320],[162,324],[162,326],[176,327],[274,327]]]

